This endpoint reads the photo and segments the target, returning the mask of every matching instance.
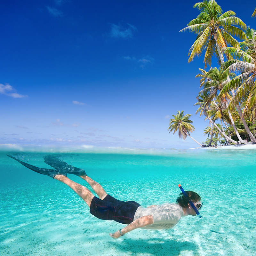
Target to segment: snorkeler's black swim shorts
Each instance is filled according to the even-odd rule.
[[[120,201],[107,195],[103,200],[92,198],[90,213],[101,220],[115,220],[123,224],[130,224],[140,204],[134,201]]]

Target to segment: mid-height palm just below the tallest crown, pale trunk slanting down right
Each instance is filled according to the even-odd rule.
[[[205,70],[204,70],[205,71]],[[198,77],[199,75],[197,75],[196,77]],[[222,70],[221,68],[211,68],[209,70],[209,72],[204,73],[204,76],[207,76],[208,80],[205,82],[202,82],[200,86],[204,86],[204,89],[201,92],[209,92],[209,99],[213,100],[213,104],[215,104],[217,107],[218,105],[216,104],[214,98],[218,96],[219,92],[222,90],[222,88],[224,87],[224,84],[227,83],[227,76],[231,76],[234,77],[235,74],[228,74],[228,70]],[[200,81],[201,82],[201,81]],[[199,92],[200,93],[200,92]],[[228,98],[230,98],[229,94],[226,93],[222,94],[221,97],[219,97],[220,99],[220,114],[221,117],[223,116],[222,113],[222,106],[226,106],[228,105]],[[230,118],[231,124],[234,128],[234,131],[236,132],[236,136],[238,138],[238,140],[241,143],[245,143],[245,141],[241,138],[241,136],[239,135],[237,129],[236,129],[236,125],[235,122],[233,120],[233,117],[228,109],[228,116]]]

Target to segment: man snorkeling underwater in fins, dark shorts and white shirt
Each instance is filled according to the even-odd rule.
[[[101,185],[92,180],[83,169],[67,164],[60,160],[58,155],[49,155],[44,157],[44,162],[52,166],[54,170],[38,168],[34,165],[22,162],[14,156],[8,156],[34,172],[48,175],[55,180],[59,180],[67,184],[85,201],[85,203],[90,207],[90,213],[98,219],[115,220],[119,223],[128,224],[126,227],[121,228],[115,233],[110,233],[109,235],[112,238],[123,236],[125,233],[136,228],[172,228],[179,222],[181,217],[188,215],[196,216],[195,211],[202,207],[201,197],[196,192],[186,191],[190,203],[194,204],[196,207],[195,210],[190,205],[188,198],[182,193],[177,198],[176,204],[165,203],[143,208],[140,204],[134,201],[124,202],[108,195]],[[98,197],[94,196],[88,188],[70,180],[67,177],[67,173],[75,174],[83,180],[86,180]]]

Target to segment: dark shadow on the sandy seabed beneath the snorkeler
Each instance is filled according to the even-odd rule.
[[[155,256],[178,256],[181,251],[197,251],[197,245],[192,242],[178,242],[176,240],[153,239],[125,239],[120,244],[116,244],[118,250],[131,252],[132,255],[139,253]]]

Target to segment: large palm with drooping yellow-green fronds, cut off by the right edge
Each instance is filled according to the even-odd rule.
[[[244,103],[243,119],[256,104],[256,31],[248,28],[246,36],[248,39],[240,43],[241,49],[234,47],[223,48],[223,52],[230,54],[234,58],[234,60],[226,61],[223,66],[231,72],[238,71],[240,74],[229,81],[222,92],[236,90],[231,103],[234,105]],[[248,125],[244,122],[243,124],[250,139],[256,143],[256,139]]]

